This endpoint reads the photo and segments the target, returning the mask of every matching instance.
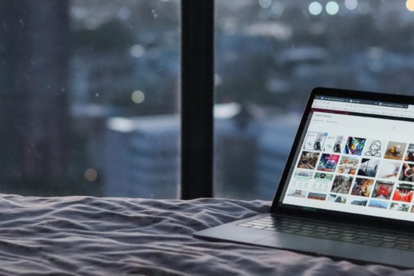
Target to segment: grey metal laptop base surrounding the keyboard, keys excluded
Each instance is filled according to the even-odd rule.
[[[357,264],[370,263],[395,266],[397,268],[414,268],[414,263],[412,262],[414,252],[406,250],[366,246],[363,244],[237,226],[237,224],[243,224],[253,219],[267,217],[268,215],[257,215],[248,219],[241,219],[229,224],[201,230],[194,233],[194,237],[214,242],[236,242],[239,244],[288,249],[299,253],[344,259]]]

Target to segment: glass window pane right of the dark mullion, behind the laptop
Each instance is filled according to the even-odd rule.
[[[217,0],[215,196],[273,199],[312,88],[412,94],[411,2]]]

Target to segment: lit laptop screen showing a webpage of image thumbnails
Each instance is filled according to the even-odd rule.
[[[414,106],[316,96],[282,204],[414,221]]]

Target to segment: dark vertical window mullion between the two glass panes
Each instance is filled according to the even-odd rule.
[[[213,197],[214,1],[181,0],[181,199]]]

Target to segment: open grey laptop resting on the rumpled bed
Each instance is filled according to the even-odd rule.
[[[270,213],[194,236],[414,268],[413,194],[414,97],[315,88]]]

